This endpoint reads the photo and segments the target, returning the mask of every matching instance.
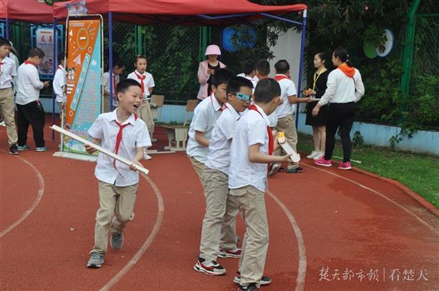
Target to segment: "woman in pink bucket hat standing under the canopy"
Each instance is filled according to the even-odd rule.
[[[212,94],[212,75],[215,74],[219,68],[225,68],[226,65],[219,62],[218,55],[221,55],[221,50],[217,45],[209,45],[206,47],[207,60],[200,62],[198,66],[198,81],[200,82],[200,90],[198,90],[198,103],[206,99]]]

